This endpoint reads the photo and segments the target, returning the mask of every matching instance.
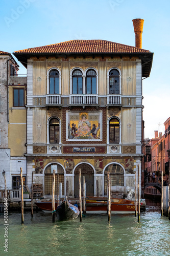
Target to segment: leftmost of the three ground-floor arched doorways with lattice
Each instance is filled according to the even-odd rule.
[[[62,195],[64,195],[64,170],[61,165],[53,163],[48,165],[44,170],[44,193],[45,195],[52,195],[53,185],[53,169],[57,165],[57,173],[55,179],[55,195],[57,195],[57,174],[59,175],[59,184],[62,183]]]

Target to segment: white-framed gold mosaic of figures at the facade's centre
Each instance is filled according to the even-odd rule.
[[[102,111],[66,112],[66,140],[102,140]]]

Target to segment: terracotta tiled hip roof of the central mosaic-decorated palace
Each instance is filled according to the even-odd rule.
[[[70,40],[54,45],[28,48],[14,53],[149,53],[133,46],[106,40]]]

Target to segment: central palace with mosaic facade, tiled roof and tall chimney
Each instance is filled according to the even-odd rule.
[[[108,170],[112,185],[134,188],[143,156],[142,77],[153,60],[141,49],[142,23],[134,20],[136,47],[70,40],[13,53],[28,70],[29,187],[34,172],[34,183],[51,195],[57,169],[62,194],[68,184],[69,196],[77,197],[81,168],[87,196],[107,195]]]

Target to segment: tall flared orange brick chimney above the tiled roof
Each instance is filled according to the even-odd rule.
[[[135,46],[141,48],[144,19],[135,18],[132,20],[135,31]]]

